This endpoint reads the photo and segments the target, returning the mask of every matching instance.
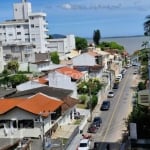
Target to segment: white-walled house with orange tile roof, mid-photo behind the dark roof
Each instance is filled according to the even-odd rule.
[[[49,72],[49,86],[73,91],[72,97],[77,98],[77,82],[84,78],[84,74],[70,67],[58,68]]]

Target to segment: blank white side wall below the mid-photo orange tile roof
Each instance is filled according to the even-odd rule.
[[[48,74],[49,86],[73,90],[72,97],[77,98],[76,82],[72,82],[69,76],[58,72],[51,72]]]

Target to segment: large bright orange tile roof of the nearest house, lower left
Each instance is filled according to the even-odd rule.
[[[25,111],[31,112],[33,114],[48,116],[48,112],[53,112],[57,108],[59,108],[64,102],[56,99],[51,98],[47,95],[42,93],[38,93],[30,98],[11,98],[11,99],[2,99],[0,100],[0,114],[4,114],[14,107],[21,108]],[[47,113],[43,113],[47,112]]]

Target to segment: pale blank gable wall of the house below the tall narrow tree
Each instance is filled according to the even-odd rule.
[[[94,66],[95,58],[88,53],[81,54],[72,59],[73,66]]]

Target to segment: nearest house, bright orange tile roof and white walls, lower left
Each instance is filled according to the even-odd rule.
[[[42,137],[61,116],[60,99],[37,93],[28,98],[0,100],[1,137]],[[43,131],[41,132],[41,128]]]

